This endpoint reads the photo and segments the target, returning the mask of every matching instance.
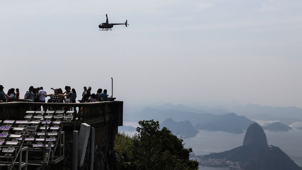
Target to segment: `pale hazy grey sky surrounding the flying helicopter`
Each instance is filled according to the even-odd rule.
[[[0,0],[0,84],[302,107],[301,21],[301,0]]]

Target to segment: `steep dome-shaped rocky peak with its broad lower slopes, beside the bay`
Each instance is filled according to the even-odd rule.
[[[229,151],[205,155],[205,158],[227,159],[240,162],[245,170],[300,170],[291,158],[280,148],[267,145],[266,135],[256,123],[249,126],[243,146]]]

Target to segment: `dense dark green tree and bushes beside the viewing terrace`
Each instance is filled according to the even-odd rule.
[[[125,134],[116,136],[114,149],[121,169],[198,169],[198,162],[189,160],[192,149],[185,149],[183,140],[169,129],[163,127],[159,130],[159,122],[154,120],[138,123],[141,127],[137,127],[138,133],[133,137]]]

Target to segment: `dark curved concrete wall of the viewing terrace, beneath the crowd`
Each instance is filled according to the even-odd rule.
[[[114,155],[114,140],[118,126],[123,126],[123,101],[93,103],[0,103],[0,120],[24,120],[26,111],[34,106],[76,107],[79,113],[71,122],[64,122],[65,139],[72,140],[73,130],[80,130],[81,123],[95,128],[95,145],[106,159],[101,164],[104,169],[118,169]],[[83,107],[83,112],[81,108]],[[103,159],[103,158],[102,158]],[[104,162],[103,162],[104,161]],[[97,164],[96,164],[97,165]],[[49,167],[51,169],[51,167]]]

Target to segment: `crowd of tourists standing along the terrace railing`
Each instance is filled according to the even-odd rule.
[[[7,93],[3,91],[4,87],[0,85],[0,103],[3,102],[15,102],[21,101],[19,89],[11,88]],[[45,103],[46,98],[49,96],[50,99],[47,100],[47,103],[76,103],[76,90],[72,89],[70,86],[65,86],[65,91],[61,88],[54,89],[52,94],[47,94],[43,87],[34,88],[33,86],[29,87],[29,89],[24,94],[23,99],[26,99],[29,102],[40,102]],[[108,100],[107,90],[98,89],[96,93],[92,93],[91,87],[84,87],[84,91],[82,93],[82,99],[79,100],[80,103],[88,103],[88,102],[102,102]],[[34,110],[38,110],[39,108],[34,108]],[[52,108],[48,108],[52,110]],[[43,107],[44,110],[44,107]]]

